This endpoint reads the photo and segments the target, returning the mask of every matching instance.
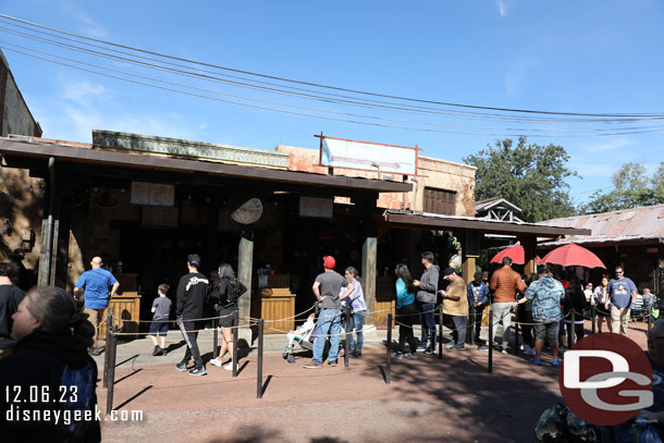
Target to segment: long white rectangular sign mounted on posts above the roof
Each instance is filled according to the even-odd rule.
[[[320,164],[417,175],[417,149],[323,137]]]

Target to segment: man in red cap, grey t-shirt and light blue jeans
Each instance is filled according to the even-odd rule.
[[[321,310],[318,315],[313,340],[313,358],[311,362],[305,365],[306,369],[320,369],[323,366],[323,348],[325,347],[327,335],[330,334],[330,354],[328,364],[336,366],[339,355],[339,334],[341,333],[341,300],[353,294],[355,286],[340,273],[334,271],[336,260],[332,256],[323,257],[323,268],[325,271],[316,278],[313,283],[313,295],[321,303]],[[340,296],[342,287],[346,287]]]

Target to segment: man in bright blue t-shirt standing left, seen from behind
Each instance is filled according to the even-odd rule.
[[[103,347],[97,347],[97,335],[99,332],[99,320],[103,316],[103,310],[109,306],[109,299],[118,292],[118,280],[106,269],[101,269],[103,261],[101,257],[93,258],[90,266],[93,269],[85,271],[74,286],[74,297],[78,299],[78,293],[84,290],[85,313],[95,327],[95,342],[90,354],[99,355]],[[111,292],[109,296],[109,290]]]

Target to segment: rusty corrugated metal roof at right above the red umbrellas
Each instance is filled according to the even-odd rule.
[[[567,217],[539,222],[548,226],[568,226],[591,230],[589,236],[571,235],[545,245],[568,243],[628,243],[652,241],[664,243],[664,205],[622,211]]]

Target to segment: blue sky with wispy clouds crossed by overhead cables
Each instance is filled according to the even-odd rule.
[[[199,1],[186,5],[175,1],[4,0],[0,12],[156,52],[388,95],[560,112],[640,113],[664,108],[664,3],[656,0]],[[0,39],[66,53],[3,32]],[[312,135],[322,131],[343,138],[417,144],[422,155],[452,161],[462,161],[497,138],[260,111],[126,84],[9,50],[4,54],[45,137],[90,141],[91,128],[106,128],[272,149],[279,144],[317,148]],[[118,62],[85,60],[128,70]],[[132,72],[255,99],[379,114],[148,70]],[[497,127],[481,132],[500,134],[513,133],[506,127],[524,126],[457,119],[436,122]],[[662,132],[529,140],[567,149],[570,168],[583,177],[569,181],[577,201],[593,189],[606,188],[611,173],[626,161],[644,163],[651,172],[664,161]]]

